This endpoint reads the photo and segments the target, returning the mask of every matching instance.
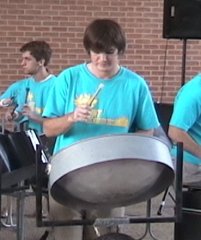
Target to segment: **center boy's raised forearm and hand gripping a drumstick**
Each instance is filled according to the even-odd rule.
[[[76,122],[86,122],[90,118],[91,107],[79,106],[74,112],[56,118],[43,118],[43,130],[47,137],[58,136],[67,132]]]

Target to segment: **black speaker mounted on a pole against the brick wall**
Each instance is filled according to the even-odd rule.
[[[201,0],[164,0],[163,37],[201,39]]]

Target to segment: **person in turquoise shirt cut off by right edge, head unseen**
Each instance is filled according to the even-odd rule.
[[[201,181],[201,75],[187,82],[174,102],[169,136],[173,142],[183,142],[184,183]],[[176,146],[172,149],[176,156]]]

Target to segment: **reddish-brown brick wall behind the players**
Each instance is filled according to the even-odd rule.
[[[181,84],[181,40],[162,38],[162,0],[0,0],[0,91],[23,77],[20,46],[44,39],[53,73],[88,59],[82,36],[94,18],[113,18],[126,32],[121,60],[148,81],[156,100],[171,102]],[[200,69],[199,40],[188,40],[186,80]]]

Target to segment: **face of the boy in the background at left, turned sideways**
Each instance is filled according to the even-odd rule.
[[[42,61],[36,61],[29,51],[25,51],[22,53],[21,66],[25,74],[34,75],[43,66],[43,63]]]

